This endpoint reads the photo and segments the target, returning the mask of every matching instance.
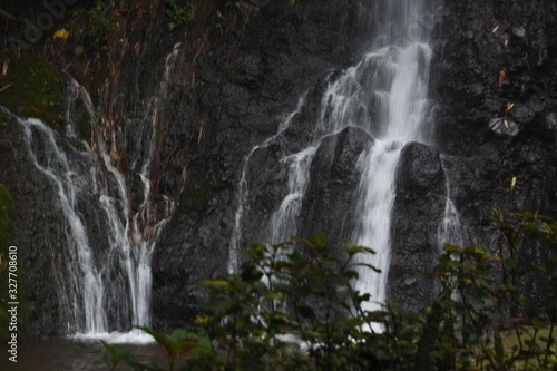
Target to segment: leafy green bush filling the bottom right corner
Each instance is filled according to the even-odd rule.
[[[419,352],[423,370],[557,367],[553,346],[557,224],[529,213],[492,212],[495,217],[488,224],[500,236],[496,254],[489,255],[476,246],[449,245],[432,272],[441,291],[428,314],[423,344],[420,343],[420,349],[427,350]],[[541,244],[549,252],[544,265],[528,267],[517,263],[517,250],[525,243],[529,248]],[[525,295],[524,279],[535,271],[548,273],[541,277],[547,280],[548,290],[545,297],[532,303]]]

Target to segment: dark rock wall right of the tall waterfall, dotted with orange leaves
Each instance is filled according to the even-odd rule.
[[[556,10],[537,0],[447,1],[433,11],[436,145],[469,244],[492,242],[477,226],[488,206],[557,215]]]

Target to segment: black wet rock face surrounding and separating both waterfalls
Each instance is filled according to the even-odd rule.
[[[434,289],[423,273],[440,247],[447,179],[467,244],[495,248],[494,231],[476,224],[488,215],[487,206],[557,216],[557,3],[440,2],[432,1],[417,21],[431,28],[436,43],[429,118],[433,147],[409,144],[397,169],[389,299],[411,309],[423,305]],[[226,273],[244,168],[251,188],[241,245],[268,238],[271,214],[289,192],[282,159],[315,140],[323,91],[339,70],[367,51],[377,7],[361,0],[299,1],[296,7],[268,1],[245,30],[214,38],[167,33],[154,11],[150,26],[129,36],[129,43],[139,42],[141,49],[123,53],[119,84],[108,95],[115,100],[97,105],[110,111],[117,107],[114,140],[128,158],[134,207],[141,199],[134,158],[148,148],[136,134],[152,125],[152,201],[176,204],[152,262],[155,329],[188,323],[205,297],[197,281]],[[192,62],[198,48],[204,52]],[[146,119],[152,114],[146,107],[157,95],[157,115]],[[305,102],[296,111],[300,97]],[[291,113],[284,133],[265,143]],[[12,126],[6,135],[12,147],[0,141],[0,166],[7,169],[0,182],[13,195],[16,225],[29,226],[17,227],[14,237],[31,293],[32,335],[62,334],[63,323],[50,320],[60,304],[50,275],[56,260],[47,252],[62,250],[65,233],[60,213],[46,202],[55,191],[26,160],[21,133]],[[297,225],[301,236],[329,234],[333,243],[351,237],[358,185],[353,169],[372,143],[356,128],[315,140]],[[101,228],[94,225],[91,231]],[[102,238],[91,240],[101,252]]]

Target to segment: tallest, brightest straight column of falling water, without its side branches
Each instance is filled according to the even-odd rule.
[[[372,247],[377,254],[361,257],[362,263],[374,265],[382,271],[379,279],[361,272],[356,289],[372,295],[373,302],[367,310],[380,309],[385,300],[385,286],[390,264],[390,225],[395,192],[395,168],[401,149],[409,141],[426,141],[422,124],[428,108],[428,79],[431,50],[427,36],[420,35],[418,41],[404,32],[422,11],[421,1],[390,1],[387,6],[387,46],[371,55],[379,64],[387,62],[392,69],[392,82],[387,95],[378,91],[379,111],[383,116],[378,130],[375,145],[363,154],[361,166],[363,175],[359,186],[360,225],[354,233],[359,245]],[[413,35],[417,36],[416,33]],[[416,39],[414,39],[416,40]]]

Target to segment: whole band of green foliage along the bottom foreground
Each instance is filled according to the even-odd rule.
[[[372,250],[346,243],[338,258],[322,237],[293,238],[254,245],[243,251],[247,260],[237,274],[204,280],[208,306],[194,333],[143,330],[160,344],[169,370],[555,370],[557,223],[528,213],[494,215],[496,254],[446,246],[430,272],[438,295],[417,313],[390,303],[364,309],[372,299],[353,283],[361,269],[377,271],[359,263]],[[543,265],[517,263],[525,243],[545,248]],[[524,295],[532,272],[548,283],[535,303]],[[163,370],[119,352],[113,359],[134,370]],[[188,357],[176,369],[180,353]]]

